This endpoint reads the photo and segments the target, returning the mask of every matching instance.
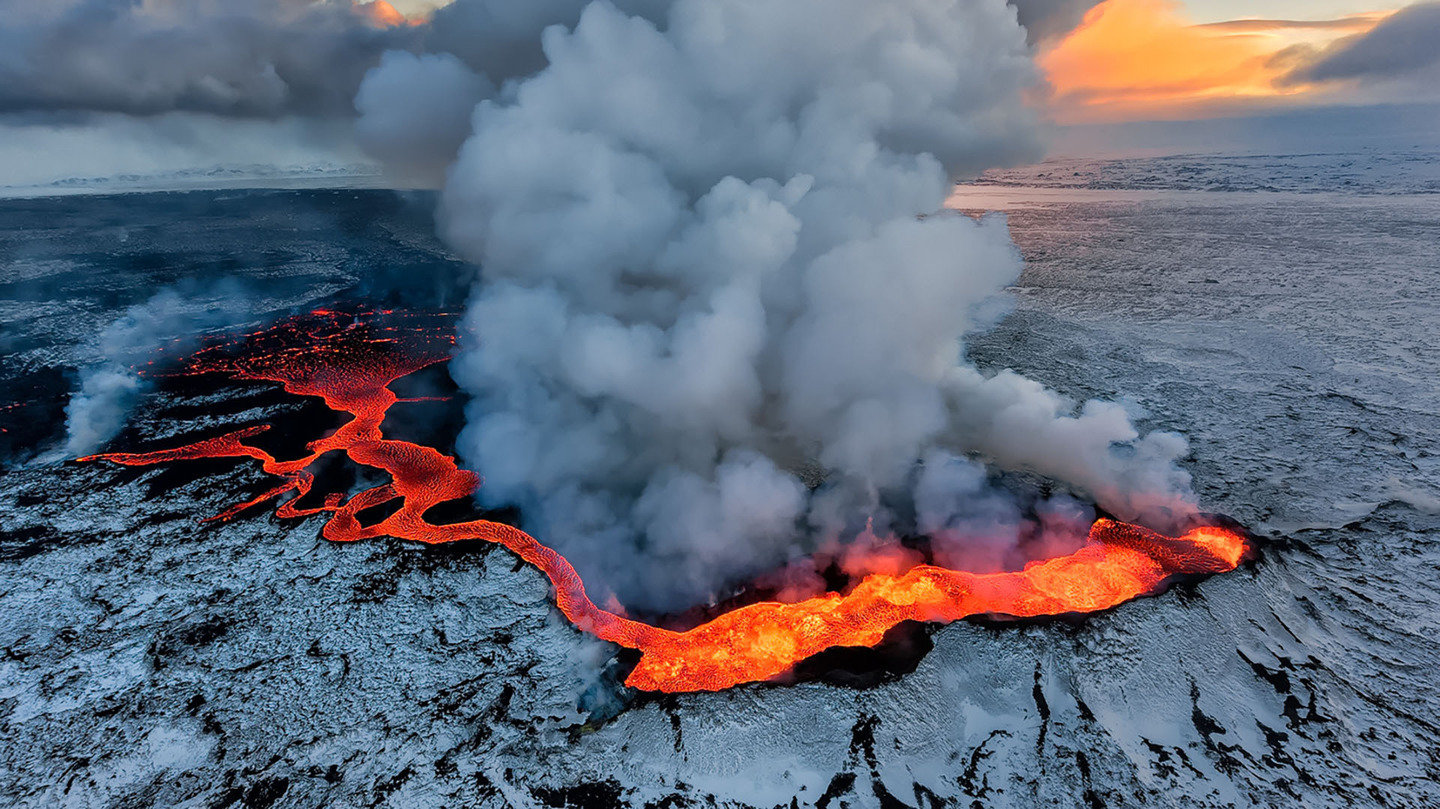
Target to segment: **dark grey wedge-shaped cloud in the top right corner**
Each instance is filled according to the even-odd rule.
[[[1440,66],[1440,3],[1407,6],[1368,33],[1320,50],[1286,81],[1404,79]]]

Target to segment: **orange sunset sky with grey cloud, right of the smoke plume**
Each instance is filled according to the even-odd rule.
[[[1437,37],[1440,3],[1106,0],[1040,63],[1060,124],[1214,118],[1433,99]]]

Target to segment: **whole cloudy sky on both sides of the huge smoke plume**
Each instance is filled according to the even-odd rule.
[[[1031,102],[1094,143],[1166,131],[1151,122],[1315,121],[1295,115],[1319,109],[1380,127],[1414,117],[1372,109],[1440,104],[1440,0],[1009,1],[1032,23],[1044,76]],[[511,53],[475,45],[500,19],[491,4],[0,0],[0,193],[266,154],[364,161],[350,130],[367,71],[386,52],[438,50],[487,72]]]

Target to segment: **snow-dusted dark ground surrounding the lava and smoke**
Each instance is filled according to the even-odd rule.
[[[3,802],[1434,806],[1440,197],[958,199],[982,191],[1030,266],[979,358],[1187,432],[1207,507],[1274,538],[1260,561],[1079,625],[940,628],[868,690],[649,698],[501,550],[197,528],[264,484],[249,466],[10,461]],[[0,203],[0,373],[33,400],[3,416],[26,419],[12,451],[53,433],[98,325],[171,276],[284,308],[455,269],[423,216],[348,191]],[[298,413],[181,393],[118,443]]]

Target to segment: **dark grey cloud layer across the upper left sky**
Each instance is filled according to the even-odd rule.
[[[0,112],[350,115],[419,33],[310,0],[0,0]]]

